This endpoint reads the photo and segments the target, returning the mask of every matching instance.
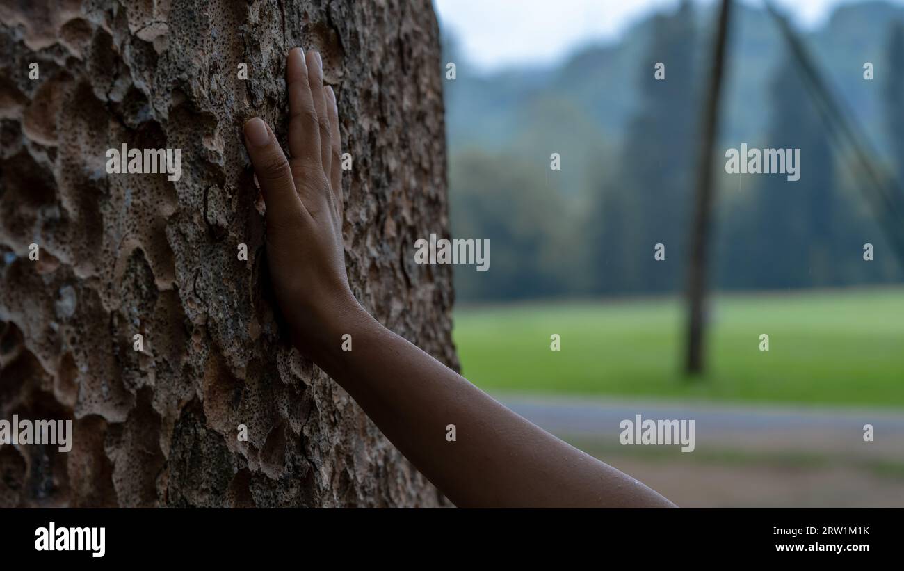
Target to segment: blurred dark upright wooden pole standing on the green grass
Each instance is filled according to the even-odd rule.
[[[725,74],[725,47],[728,39],[731,0],[722,0],[719,13],[719,29],[713,44],[710,84],[706,107],[703,109],[700,139],[700,155],[697,171],[697,194],[694,200],[693,226],[691,227],[691,259],[688,267],[688,330],[687,363],[689,374],[703,371],[703,332],[705,329],[707,256],[711,233],[712,156],[719,132],[719,102],[722,77]]]

